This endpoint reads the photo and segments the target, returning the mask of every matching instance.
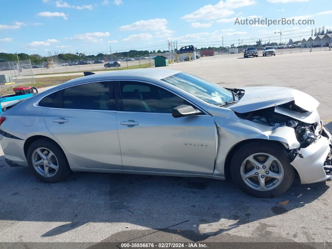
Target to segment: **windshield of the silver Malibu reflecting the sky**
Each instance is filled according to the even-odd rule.
[[[232,92],[189,73],[180,72],[161,79],[213,105],[233,101]]]

